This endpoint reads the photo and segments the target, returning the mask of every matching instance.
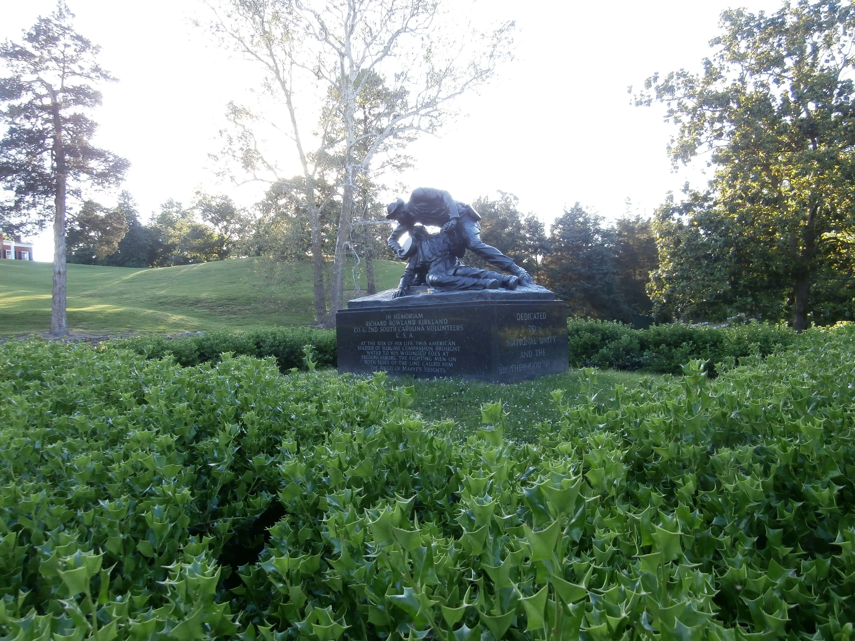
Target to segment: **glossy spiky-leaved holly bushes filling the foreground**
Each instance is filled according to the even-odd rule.
[[[850,638],[855,328],[703,364],[519,444],[382,373],[5,344],[0,638]]]

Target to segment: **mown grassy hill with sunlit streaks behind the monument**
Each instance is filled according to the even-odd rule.
[[[397,285],[402,272],[400,263],[376,262],[378,289]],[[347,277],[352,287],[350,270]],[[365,274],[358,280],[364,294]],[[0,261],[0,336],[50,329],[51,282],[50,263]],[[252,258],[151,269],[68,265],[68,327],[146,333],[314,321],[311,266],[296,266],[286,283],[271,282]]]

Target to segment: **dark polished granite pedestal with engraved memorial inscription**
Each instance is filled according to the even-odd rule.
[[[567,308],[543,287],[393,291],[339,310],[339,372],[510,383],[568,370]]]

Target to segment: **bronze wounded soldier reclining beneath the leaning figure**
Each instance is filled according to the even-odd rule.
[[[410,228],[411,242],[401,247],[398,256],[407,258],[407,268],[393,298],[406,296],[412,285],[427,283],[447,290],[516,289],[519,279],[504,273],[470,268],[455,256],[448,232],[429,233],[422,225]]]

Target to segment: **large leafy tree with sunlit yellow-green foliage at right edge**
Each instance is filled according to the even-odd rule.
[[[700,209],[660,214],[673,223],[665,242],[691,236],[695,262],[718,259],[720,300],[756,294],[754,303],[768,307],[774,297],[802,330],[822,303],[821,279],[848,278],[855,267],[855,8],[799,0],[772,15],[725,11],[722,26],[702,74],[655,75],[636,100],[667,105],[666,119],[677,126],[674,162],[708,150],[716,168],[708,198],[693,199]],[[692,289],[675,270],[690,264],[688,246],[678,262],[672,249],[660,246],[652,290],[659,303]],[[698,307],[699,300],[686,302]]]

